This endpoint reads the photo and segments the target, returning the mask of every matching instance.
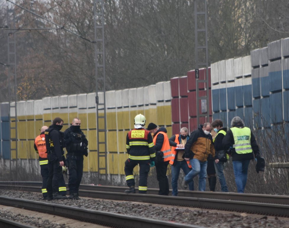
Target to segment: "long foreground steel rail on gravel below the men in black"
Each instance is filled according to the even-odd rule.
[[[46,214],[53,214],[70,219],[76,219],[83,222],[90,222],[94,224],[101,224],[109,227],[151,227],[151,228],[165,228],[165,227],[179,227],[179,228],[203,228],[201,226],[181,224],[176,222],[165,222],[155,219],[148,219],[143,217],[134,217],[123,214],[116,214],[111,212],[102,212],[91,209],[83,209],[72,206],[65,206],[60,204],[51,204],[46,202],[38,202],[25,199],[14,199],[0,196],[0,204],[21,207],[31,211],[42,212]]]

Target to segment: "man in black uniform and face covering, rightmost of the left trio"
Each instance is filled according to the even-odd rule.
[[[64,139],[67,150],[67,164],[69,171],[68,199],[79,199],[79,185],[82,179],[83,172],[83,155],[87,157],[88,141],[85,138],[82,130],[80,130],[81,121],[79,118],[74,118],[72,125],[64,131]]]

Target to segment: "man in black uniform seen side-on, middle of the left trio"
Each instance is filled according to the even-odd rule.
[[[67,199],[66,196],[59,194],[59,181],[63,178],[62,166],[65,157],[63,148],[65,147],[63,133],[60,131],[63,120],[56,117],[52,125],[45,131],[46,150],[48,153],[48,180],[47,194],[48,200]]]

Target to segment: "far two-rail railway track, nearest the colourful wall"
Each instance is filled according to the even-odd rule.
[[[0,189],[39,192],[40,182],[0,182]],[[289,196],[238,194],[222,192],[179,191],[180,196],[159,196],[157,189],[148,194],[125,194],[125,187],[81,185],[84,197],[134,201],[162,205],[217,209],[232,212],[289,217]]]

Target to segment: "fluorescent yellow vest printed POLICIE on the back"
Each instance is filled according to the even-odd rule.
[[[231,128],[233,133],[235,144],[233,148],[235,148],[236,153],[245,154],[252,153],[251,147],[251,130],[250,128]]]

